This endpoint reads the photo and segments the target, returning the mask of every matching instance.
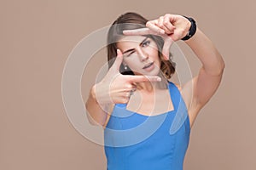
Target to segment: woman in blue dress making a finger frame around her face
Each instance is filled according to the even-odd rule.
[[[183,87],[167,81],[175,72],[169,49],[178,40],[202,63]],[[190,128],[224,72],[218,50],[191,18],[165,14],[148,21],[126,13],[108,31],[108,61],[86,102],[90,122],[104,127],[108,170],[183,169]],[[170,133],[182,113],[186,118]]]

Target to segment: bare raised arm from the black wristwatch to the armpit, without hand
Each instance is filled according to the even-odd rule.
[[[185,42],[202,63],[198,75],[182,88],[186,100],[190,100],[189,116],[193,124],[201,108],[207,104],[218,89],[224,73],[224,59],[211,40],[198,28],[194,37]]]

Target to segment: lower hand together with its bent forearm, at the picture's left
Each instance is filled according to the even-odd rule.
[[[92,125],[103,126],[108,120],[108,112],[114,104],[128,103],[131,90],[137,88],[138,82],[160,82],[160,77],[156,76],[127,76],[119,72],[119,67],[123,62],[123,54],[118,49],[117,57],[107,75],[101,82],[96,83],[90,89],[90,96],[85,103],[88,120]]]

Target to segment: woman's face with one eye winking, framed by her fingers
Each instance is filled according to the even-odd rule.
[[[117,42],[124,54],[123,64],[135,75],[155,76],[160,72],[160,58],[156,43],[150,37],[125,36]]]

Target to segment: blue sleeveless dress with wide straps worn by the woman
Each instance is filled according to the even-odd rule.
[[[126,110],[117,104],[104,129],[108,170],[182,170],[189,145],[189,116],[183,98],[168,82],[174,106],[155,116]]]

